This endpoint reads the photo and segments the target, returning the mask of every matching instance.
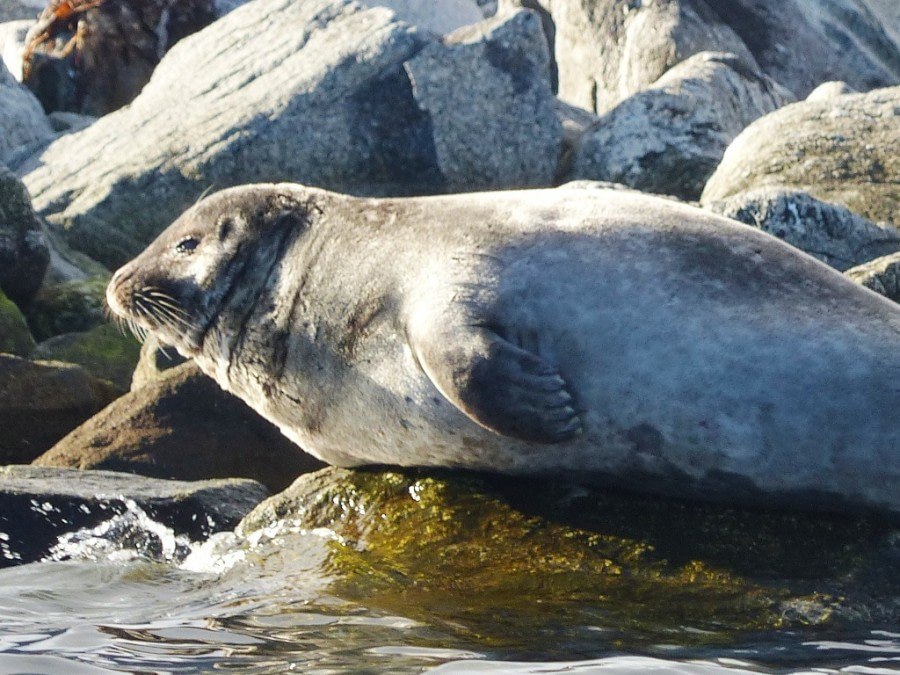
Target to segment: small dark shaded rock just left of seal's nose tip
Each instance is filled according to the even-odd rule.
[[[25,308],[24,314],[38,342],[89,331],[106,323],[105,298],[108,276],[45,284]]]

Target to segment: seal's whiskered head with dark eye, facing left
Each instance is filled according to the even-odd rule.
[[[151,332],[196,356],[221,315],[252,309],[311,209],[297,186],[211,195],[113,275],[107,302],[138,334]]]

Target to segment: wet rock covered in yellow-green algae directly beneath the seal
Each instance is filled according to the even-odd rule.
[[[635,636],[673,640],[680,626],[677,641],[698,647],[900,618],[900,582],[882,567],[900,537],[863,518],[326,469],[261,504],[239,532],[278,522],[333,533],[327,573],[339,597],[453,627],[485,648],[533,645],[548,617],[560,634],[602,627],[631,646]]]

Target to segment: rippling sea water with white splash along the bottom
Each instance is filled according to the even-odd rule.
[[[535,628],[519,608],[540,616],[539,596],[493,598],[485,616],[465,611],[464,587],[449,609],[410,592],[425,604],[389,611],[397,603],[358,590],[365,579],[339,591],[329,559],[345,544],[287,523],[192,543],[132,505],[61,537],[44,562],[0,570],[0,673],[900,672],[900,630],[885,626],[723,643],[684,624],[662,635],[604,623],[582,600]]]

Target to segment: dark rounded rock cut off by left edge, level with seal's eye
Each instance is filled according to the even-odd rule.
[[[0,164],[0,290],[17,304],[27,303],[49,262],[50,250],[25,186]]]

